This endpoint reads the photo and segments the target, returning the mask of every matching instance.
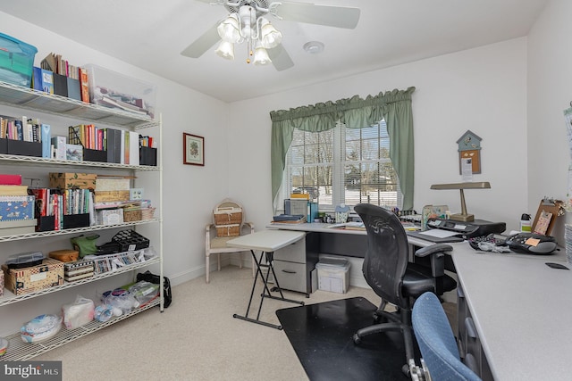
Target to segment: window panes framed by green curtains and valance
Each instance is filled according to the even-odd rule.
[[[294,129],[282,196],[309,194],[322,210],[333,210],[340,203],[400,208],[402,195],[389,150],[384,120],[368,128],[338,123],[322,132]]]

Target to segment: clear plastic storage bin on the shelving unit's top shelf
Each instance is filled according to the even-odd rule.
[[[85,68],[92,104],[155,117],[155,85],[91,63]]]

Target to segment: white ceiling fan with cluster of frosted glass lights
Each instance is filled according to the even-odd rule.
[[[290,55],[282,46],[282,33],[266,18],[298,21],[336,28],[354,29],[359,20],[359,9],[309,3],[273,2],[272,0],[198,0],[213,5],[223,5],[230,15],[218,21],[181,52],[190,58],[198,58],[220,41],[216,53],[223,58],[234,58],[234,44],[247,43],[248,58],[255,64],[272,62],[276,70],[294,66]]]

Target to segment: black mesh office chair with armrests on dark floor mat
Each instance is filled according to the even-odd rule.
[[[355,344],[362,337],[377,332],[400,330],[405,341],[406,364],[402,367],[406,375],[416,369],[414,359],[411,308],[416,297],[430,291],[441,295],[455,289],[457,282],[445,274],[445,253],[452,250],[449,244],[432,244],[416,252],[416,256],[429,256],[431,268],[409,262],[409,245],[400,219],[379,206],[360,203],[354,211],[364,221],[367,230],[367,252],[363,273],[366,282],[382,302],[374,312],[374,324],[361,328],[354,334]],[[387,303],[394,304],[397,312],[384,311]]]

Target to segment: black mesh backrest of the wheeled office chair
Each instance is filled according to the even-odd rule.
[[[407,304],[402,278],[408,266],[408,237],[400,219],[379,206],[360,203],[354,207],[367,230],[367,252],[363,273],[367,284],[385,302]]]

